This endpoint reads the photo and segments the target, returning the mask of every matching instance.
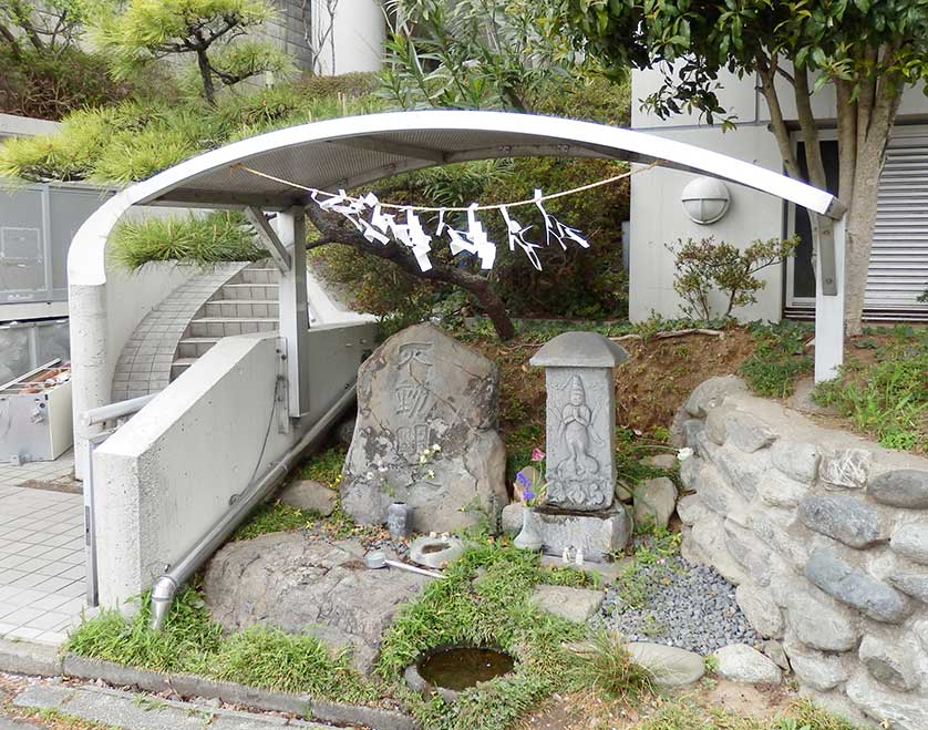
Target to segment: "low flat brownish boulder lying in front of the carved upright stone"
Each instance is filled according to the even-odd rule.
[[[266,624],[313,634],[336,650],[350,647],[354,666],[369,672],[400,605],[414,600],[429,578],[374,570],[363,557],[357,541],[301,533],[228,543],[206,570],[206,604],[229,630]]]

